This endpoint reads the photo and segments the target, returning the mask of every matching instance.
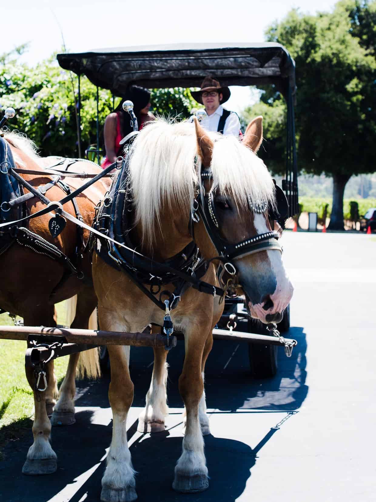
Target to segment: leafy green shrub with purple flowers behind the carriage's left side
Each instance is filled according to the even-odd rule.
[[[17,55],[25,46],[0,55],[0,109],[12,106],[16,116],[8,122],[10,129],[25,133],[43,156],[78,157],[76,113],[78,81],[76,75],[60,68],[52,56],[36,67],[18,64]],[[16,59],[12,59],[16,56]],[[115,99],[115,105],[118,99]],[[196,102],[188,89],[154,89],[152,105],[160,115],[190,115]],[[113,109],[109,90],[99,89],[99,124]],[[96,87],[81,77],[81,144],[83,150],[95,144]]]

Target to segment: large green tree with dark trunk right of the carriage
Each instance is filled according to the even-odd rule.
[[[375,0],[343,0],[331,13],[309,16],[293,10],[266,33],[296,62],[299,166],[307,173],[332,176],[331,229],[343,228],[343,192],[351,175],[374,171],[375,8]],[[367,22],[361,24],[359,17]],[[274,108],[279,99],[278,93],[269,92],[269,106]],[[276,132],[278,117],[272,110]]]

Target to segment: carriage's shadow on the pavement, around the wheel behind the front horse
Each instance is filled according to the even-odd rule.
[[[208,409],[293,411],[307,396],[305,333],[301,327],[290,328],[286,337],[298,345],[287,358],[278,348],[278,371],[271,379],[255,380],[249,369],[248,344],[215,340],[205,369]],[[148,347],[131,349],[131,378],[135,396],[132,406],[145,406],[152,372],[153,353]],[[169,363],[167,397],[170,408],[182,408],[178,379],[184,360],[184,343],[179,341],[167,358]]]

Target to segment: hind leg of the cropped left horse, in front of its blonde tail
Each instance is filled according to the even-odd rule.
[[[86,293],[86,294],[85,294]],[[89,318],[97,304],[97,298],[93,293],[92,288],[88,291],[83,291],[77,296],[77,306],[75,318],[72,322],[72,328],[87,329]],[[92,349],[94,350],[94,349]],[[96,349],[95,349],[96,350]],[[64,380],[60,386],[60,397],[54,408],[54,413],[51,417],[51,424],[55,425],[72,425],[76,422],[74,397],[76,394],[76,368],[79,353],[69,356],[69,363]]]

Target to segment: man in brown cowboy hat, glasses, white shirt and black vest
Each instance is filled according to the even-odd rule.
[[[205,106],[207,115],[201,125],[207,131],[217,131],[223,135],[239,136],[240,120],[234,111],[225,110],[222,104],[230,97],[230,89],[221,86],[218,80],[208,75],[199,91],[191,91],[192,97]]]

